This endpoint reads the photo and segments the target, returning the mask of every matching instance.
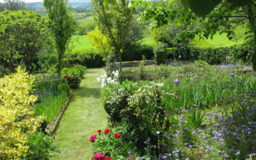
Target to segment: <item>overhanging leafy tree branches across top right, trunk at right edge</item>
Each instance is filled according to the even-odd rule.
[[[170,4],[177,0],[169,1]],[[234,24],[246,24],[248,31],[252,34],[252,66],[256,70],[256,1],[255,0],[179,0],[184,9],[168,8],[159,6],[157,3],[137,1],[136,4],[143,4],[147,10],[143,12],[144,19],[153,18],[156,20],[155,27],[163,26],[168,22],[177,24],[191,24],[200,20],[201,27],[196,28],[191,34],[200,34],[201,38],[209,38],[216,34],[216,31],[227,33],[231,40],[234,35]],[[190,10],[189,10],[190,9]],[[195,17],[198,16],[198,18]],[[186,35],[187,33],[185,33]]]

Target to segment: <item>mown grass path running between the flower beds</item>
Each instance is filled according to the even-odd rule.
[[[103,68],[86,70],[80,88],[63,115],[57,130],[56,143],[61,153],[52,154],[52,159],[92,159],[92,147],[88,137],[97,129],[105,129],[107,113],[100,99],[100,83],[97,77],[104,73]]]

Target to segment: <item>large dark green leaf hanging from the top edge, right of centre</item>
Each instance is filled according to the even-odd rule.
[[[221,2],[221,0],[184,0],[189,8],[200,17],[206,17]]]

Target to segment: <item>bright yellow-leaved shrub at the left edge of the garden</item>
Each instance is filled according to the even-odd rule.
[[[30,95],[33,77],[20,67],[16,74],[0,79],[0,157],[26,156],[30,134],[40,127],[42,117],[34,116],[35,95]]]

